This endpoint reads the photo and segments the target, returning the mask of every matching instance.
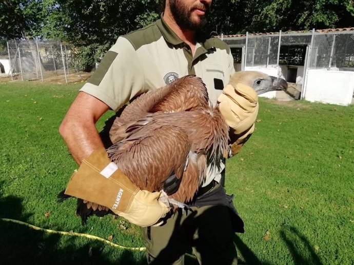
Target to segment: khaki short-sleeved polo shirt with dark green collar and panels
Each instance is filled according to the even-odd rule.
[[[206,84],[215,105],[234,73],[229,47],[218,38],[197,38],[195,54],[163,18],[117,39],[81,91],[117,111],[135,96],[156,90],[176,78],[195,74]],[[220,181],[220,165],[208,165],[207,180]]]

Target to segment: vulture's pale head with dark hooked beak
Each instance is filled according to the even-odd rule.
[[[285,91],[288,83],[283,78],[269,76],[258,71],[241,71],[234,73],[230,78],[230,84],[242,83],[253,87],[258,95],[276,90]]]

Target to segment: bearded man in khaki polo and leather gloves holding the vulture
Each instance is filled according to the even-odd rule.
[[[216,38],[205,38],[201,33],[211,2],[166,0],[161,19],[119,37],[81,89],[60,127],[73,158],[78,165],[83,163],[78,171],[80,174],[72,176],[67,191],[95,200],[143,226],[148,262],[153,264],[183,264],[184,253],[189,247],[193,247],[200,263],[237,264],[233,237],[234,231],[243,232],[243,223],[235,213],[232,197],[226,195],[221,185],[224,162],[208,165],[207,179],[195,195],[192,213],[178,211],[166,224],[151,226],[166,215],[168,207],[157,200],[159,192],[141,191],[120,170],[111,168],[95,122],[108,109],[117,111],[136,95],[188,74],[201,77],[210,101],[217,103],[234,69],[227,45]],[[240,106],[233,100],[230,104],[227,115],[233,115],[237,120],[237,111],[235,115],[232,104]],[[257,107],[256,104],[255,111]],[[253,118],[246,121],[247,130],[233,146],[234,152],[238,152],[252,133],[253,123]],[[108,180],[111,182],[107,183]],[[112,192],[107,192],[107,187]],[[105,197],[100,194],[101,188],[105,189]],[[117,191],[121,191],[119,195],[115,195]]]

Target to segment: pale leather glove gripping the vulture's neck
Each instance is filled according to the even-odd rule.
[[[224,154],[225,158],[229,158],[239,152],[254,131],[254,122],[258,115],[258,96],[248,85],[228,84],[218,101],[220,112],[231,128],[231,145],[229,152]]]

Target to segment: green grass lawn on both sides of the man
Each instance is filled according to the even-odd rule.
[[[140,229],[123,219],[82,226],[75,200],[56,203],[76,169],[58,126],[82,84],[0,84],[0,217],[142,247]],[[240,263],[353,264],[354,106],[260,99],[256,125],[227,162],[226,189],[245,222]],[[144,252],[85,237],[1,220],[0,233],[1,264],[146,264]]]

